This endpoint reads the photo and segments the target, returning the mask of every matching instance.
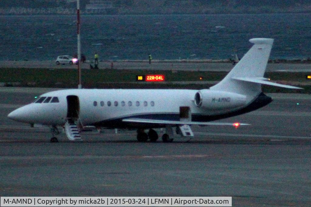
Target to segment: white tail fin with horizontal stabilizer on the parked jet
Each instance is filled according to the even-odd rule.
[[[253,38],[249,42],[253,47],[234,66],[226,77],[211,90],[234,92],[247,95],[250,99],[257,97],[261,91],[261,84],[284,88],[296,88],[277,83],[272,83],[263,78],[269,60],[273,39]]]

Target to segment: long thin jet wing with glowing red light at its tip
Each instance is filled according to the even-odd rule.
[[[250,125],[241,123],[220,123],[220,122],[198,122],[198,121],[169,121],[169,120],[157,120],[157,119],[138,119],[129,118],[123,119],[124,122],[132,123],[145,123],[145,124],[168,124],[168,125],[220,125],[220,126],[240,126],[240,125]]]

